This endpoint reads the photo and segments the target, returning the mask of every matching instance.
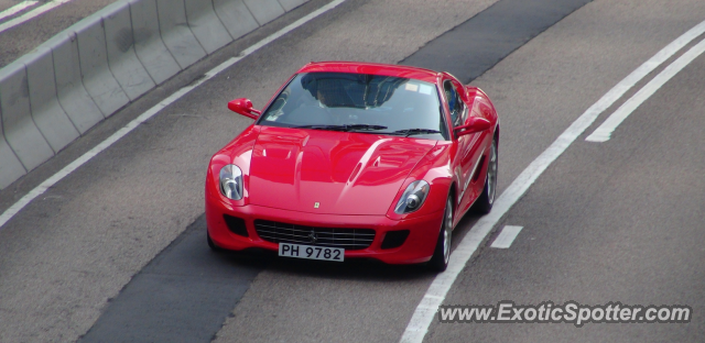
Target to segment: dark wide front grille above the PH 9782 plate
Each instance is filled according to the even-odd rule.
[[[294,243],[345,250],[367,248],[375,241],[372,229],[314,228],[256,220],[254,231],[264,241],[272,243]]]

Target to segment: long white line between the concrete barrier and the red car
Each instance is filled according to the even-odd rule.
[[[117,142],[118,140],[120,140],[121,137],[123,137],[124,135],[130,133],[132,130],[134,130],[134,128],[139,126],[141,123],[143,123],[147,120],[149,120],[150,118],[154,117],[154,114],[159,113],[159,111],[161,111],[163,108],[165,108],[165,107],[170,106],[172,102],[178,100],[181,97],[185,96],[186,93],[188,93],[189,91],[192,91],[196,87],[200,86],[205,81],[207,81],[210,78],[213,78],[214,76],[218,75],[220,71],[223,71],[223,70],[227,69],[228,67],[235,65],[240,59],[251,55],[254,52],[257,52],[262,46],[264,46],[264,45],[271,43],[272,41],[285,35],[286,33],[297,29],[299,26],[301,26],[301,25],[307,23],[308,21],[315,19],[316,16],[318,16],[318,15],[321,15],[321,14],[323,14],[323,13],[329,11],[329,10],[332,10],[333,8],[337,7],[338,4],[340,4],[343,2],[345,2],[345,0],[335,0],[335,1],[332,1],[330,3],[328,3],[326,5],[324,5],[324,7],[319,8],[319,9],[317,9],[317,10],[308,13],[307,15],[301,18],[300,20],[289,24],[286,27],[273,33],[272,35],[268,36],[267,38],[264,38],[264,40],[258,42],[257,44],[246,48],[245,51],[242,51],[242,53],[240,53],[239,56],[232,57],[232,58],[224,62],[219,66],[215,67],[210,71],[206,73],[206,75],[203,78],[200,78],[196,84],[191,85],[191,86],[186,86],[186,87],[180,89],[175,93],[171,95],[169,98],[162,100],[160,103],[158,103],[153,108],[149,109],[147,112],[140,114],[140,117],[138,117],[134,120],[132,120],[124,128],[118,130],[116,133],[113,133],[107,140],[102,141],[100,144],[96,145],[94,148],[91,148],[90,151],[85,153],[83,156],[78,157],[76,161],[72,162],[69,165],[67,165],[63,169],[58,170],[58,173],[56,173],[52,177],[47,178],[40,186],[36,186],[34,189],[32,189],[30,192],[28,192],[24,197],[22,197],[18,202],[13,203],[9,209],[7,209],[2,214],[0,214],[0,228],[2,228],[2,225],[4,225],[18,212],[20,212],[28,203],[30,203],[36,197],[39,197],[42,193],[44,193],[50,187],[54,186],[56,182],[58,182],[61,179],[66,177],[72,172],[78,169],[78,167],[84,165],[86,162],[90,161],[90,158],[95,157],[100,152],[105,151],[110,145],[112,145],[115,142]]]

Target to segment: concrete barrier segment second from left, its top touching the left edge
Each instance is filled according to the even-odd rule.
[[[26,68],[19,60],[0,70],[0,111],[4,137],[25,169],[34,169],[54,156],[30,115]]]

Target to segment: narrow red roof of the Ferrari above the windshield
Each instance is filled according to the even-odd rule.
[[[355,73],[382,76],[397,76],[435,84],[437,71],[399,65],[367,62],[312,62],[297,73]]]

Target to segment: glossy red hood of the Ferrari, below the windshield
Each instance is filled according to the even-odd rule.
[[[436,143],[262,126],[250,163],[250,203],[311,213],[384,215],[409,173]]]

